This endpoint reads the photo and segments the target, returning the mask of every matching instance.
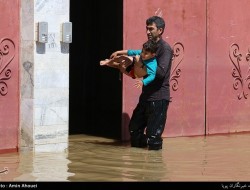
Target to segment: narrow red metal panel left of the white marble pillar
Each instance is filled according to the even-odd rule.
[[[19,0],[0,0],[0,152],[17,151]]]

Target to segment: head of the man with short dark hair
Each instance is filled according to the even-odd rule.
[[[152,16],[146,20],[146,32],[148,39],[158,41],[165,29],[165,21],[162,17]]]

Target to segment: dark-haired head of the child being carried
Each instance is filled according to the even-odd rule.
[[[156,55],[158,45],[153,40],[148,40],[142,45],[141,58],[142,60],[151,59]]]

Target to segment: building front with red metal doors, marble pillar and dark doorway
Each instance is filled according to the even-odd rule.
[[[249,7],[249,0],[0,0],[0,152],[66,151],[72,127],[119,129],[128,140],[140,91],[98,63],[118,48],[140,49],[152,15],[165,19],[163,38],[174,50],[163,137],[249,132]]]

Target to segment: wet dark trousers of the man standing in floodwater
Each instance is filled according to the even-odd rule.
[[[168,105],[167,100],[141,101],[137,104],[129,123],[132,147],[162,148],[161,135],[165,128]]]

